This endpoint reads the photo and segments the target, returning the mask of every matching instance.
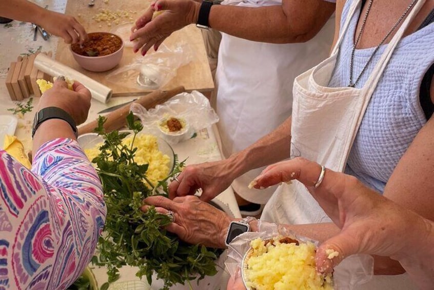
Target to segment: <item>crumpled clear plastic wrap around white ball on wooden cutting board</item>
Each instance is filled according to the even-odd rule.
[[[176,76],[177,69],[193,60],[192,49],[187,43],[177,43],[173,48],[162,44],[158,51],[150,50],[145,56],[135,57],[131,64],[107,75],[107,81],[134,89],[164,87]]]

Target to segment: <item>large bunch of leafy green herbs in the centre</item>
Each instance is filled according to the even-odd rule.
[[[95,132],[103,136],[104,144],[92,162],[96,163],[103,184],[107,219],[98,242],[99,259],[92,261],[107,267],[109,282],[118,278],[120,267],[130,265],[139,267],[136,276],[145,276],[149,283],[156,273],[157,278],[164,280],[165,289],[196,279],[196,275],[214,275],[219,250],[181,241],[164,229],[170,223],[168,216],[156,212],[153,206],[147,212],[140,209],[148,196],[168,196],[167,180],[182,170],[184,162],[179,163],[176,158],[171,175],[158,184],[150,184],[146,178],[148,165],[134,162],[137,148],[122,144],[128,133],[106,133],[104,122],[100,116]],[[143,129],[132,113],[127,123],[133,138]]]

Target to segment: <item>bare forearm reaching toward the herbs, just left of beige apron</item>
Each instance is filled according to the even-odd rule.
[[[228,159],[229,169],[241,176],[245,172],[289,158],[291,118],[277,129]]]

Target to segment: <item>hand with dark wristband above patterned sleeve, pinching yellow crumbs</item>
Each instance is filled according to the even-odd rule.
[[[41,96],[37,111],[46,107],[58,107],[69,113],[76,125],[84,123],[90,108],[90,91],[78,82],[74,82],[72,89],[68,89],[65,81],[56,80],[53,87]]]

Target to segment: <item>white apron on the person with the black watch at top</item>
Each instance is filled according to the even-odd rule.
[[[229,0],[223,5],[264,7],[281,0]],[[216,70],[216,111],[222,152],[227,158],[273,131],[291,115],[292,80],[326,59],[334,17],[312,40],[301,44],[269,44],[222,33]],[[275,188],[249,189],[263,168],[237,178],[232,187],[244,199],[265,204]]]

